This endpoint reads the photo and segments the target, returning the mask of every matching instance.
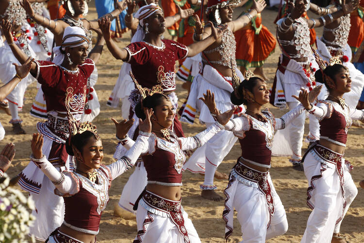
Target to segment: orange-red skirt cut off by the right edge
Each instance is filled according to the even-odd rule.
[[[358,15],[358,10],[351,13],[350,24],[351,28],[347,44],[349,44],[352,52],[356,52],[364,39],[364,22],[363,18]]]

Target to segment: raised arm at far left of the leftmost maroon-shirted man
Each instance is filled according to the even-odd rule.
[[[23,52],[14,42],[13,35],[11,34],[12,25],[9,20],[1,20],[1,28],[3,31],[3,35],[5,35],[6,41],[8,42],[8,45],[10,49],[12,50],[14,56],[17,58],[17,60],[24,64],[27,62],[29,56]],[[36,74],[36,65],[34,62],[32,62],[32,66],[30,69],[30,72],[35,75]]]

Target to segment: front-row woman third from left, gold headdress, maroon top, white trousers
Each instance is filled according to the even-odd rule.
[[[224,190],[226,200],[222,217],[226,223],[225,238],[228,240],[232,234],[235,208],[243,235],[241,243],[265,242],[288,229],[284,207],[269,173],[274,130],[284,129],[304,109],[311,109],[310,102],[315,100],[321,87],[316,87],[310,95],[302,89],[298,97],[294,96],[302,105],[277,119],[268,109],[261,111],[262,106],[269,103],[269,90],[263,79],[247,71],[241,83],[233,73],[232,82],[232,104],[245,104],[247,111],[225,125],[226,130],[239,138],[242,148],[242,156],[233,167]],[[214,110],[215,107],[210,109],[212,113],[215,113]]]

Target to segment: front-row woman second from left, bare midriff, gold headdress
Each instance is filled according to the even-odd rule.
[[[152,134],[148,146],[143,148],[142,159],[148,174],[148,185],[135,202],[138,233],[134,243],[199,243],[199,236],[181,206],[182,166],[186,159],[183,150],[200,147],[212,138],[229,121],[233,109],[217,115],[219,121],[194,137],[178,138],[169,128],[175,115],[174,105],[163,94],[158,85],[148,93],[136,81],[141,101],[135,107],[139,118],[144,118],[143,109],[152,108],[150,121]],[[200,98],[213,106],[210,91]],[[128,137],[125,146],[134,143]]]

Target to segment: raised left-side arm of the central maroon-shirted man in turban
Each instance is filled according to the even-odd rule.
[[[104,36],[105,41],[106,41],[107,48],[109,49],[111,54],[113,54],[113,56],[116,59],[121,59],[123,61],[126,61],[126,60],[128,60],[129,54],[125,49],[120,49],[115,44],[113,39],[111,38],[110,25],[111,25],[110,19],[108,19],[108,18],[100,18],[99,19],[100,30],[102,32],[102,35]]]

